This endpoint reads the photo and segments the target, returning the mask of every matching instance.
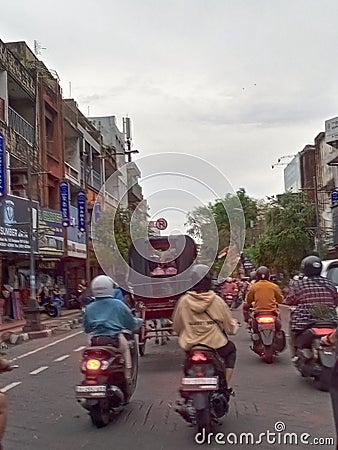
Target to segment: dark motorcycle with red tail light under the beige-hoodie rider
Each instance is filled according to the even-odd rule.
[[[224,377],[225,367],[217,351],[196,345],[186,353],[184,377],[175,411],[198,433],[207,434],[229,411],[230,391]]]

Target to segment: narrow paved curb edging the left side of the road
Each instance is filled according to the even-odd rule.
[[[50,337],[53,334],[56,334],[59,331],[70,331],[74,328],[77,328],[80,324],[82,324],[82,317],[78,317],[76,319],[70,319],[70,320],[62,320],[60,324],[57,324],[55,326],[49,326],[45,330],[41,331],[31,331],[28,333],[18,333],[18,332],[11,332],[7,331],[2,334],[2,342],[0,342],[0,348],[4,349],[7,347],[7,343],[12,345],[18,345],[22,344],[25,341],[31,340],[31,339],[39,339],[44,337]],[[48,326],[48,325],[46,325]]]

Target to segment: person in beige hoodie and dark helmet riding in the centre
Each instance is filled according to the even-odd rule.
[[[211,290],[209,268],[196,264],[192,269],[194,286],[183,295],[173,314],[173,328],[179,345],[188,351],[197,344],[217,350],[226,366],[225,379],[229,386],[236,362],[236,347],[227,334],[236,334],[237,320],[229,307]]]

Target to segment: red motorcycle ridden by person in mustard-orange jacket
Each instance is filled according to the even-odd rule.
[[[283,330],[276,331],[277,315],[274,312],[256,313],[251,318],[251,350],[259,355],[264,362],[271,364],[286,347],[286,338]],[[257,332],[254,331],[253,321],[256,321]]]

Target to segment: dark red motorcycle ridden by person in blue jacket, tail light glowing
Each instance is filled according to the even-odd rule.
[[[89,411],[92,423],[102,428],[113,415],[119,414],[133,395],[138,374],[138,351],[135,336],[123,333],[129,342],[132,370],[130,380],[125,375],[125,359],[119,351],[118,338],[92,337],[91,347],[83,351],[82,383],[75,387],[75,396],[81,406]]]

